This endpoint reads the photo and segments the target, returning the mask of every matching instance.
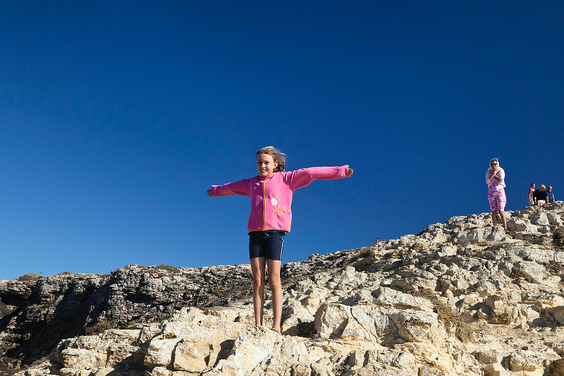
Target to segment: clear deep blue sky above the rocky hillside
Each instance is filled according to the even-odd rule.
[[[293,200],[284,260],[564,198],[564,3],[2,2],[0,279],[248,263],[252,177],[350,164]]]

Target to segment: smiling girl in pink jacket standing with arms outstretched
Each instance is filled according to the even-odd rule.
[[[273,146],[257,151],[258,176],[212,185],[208,196],[240,195],[250,197],[249,258],[253,271],[254,322],[262,325],[265,304],[265,265],[268,264],[268,281],[272,291],[272,330],[281,333],[282,285],[280,266],[284,248],[284,235],[292,224],[292,194],[314,180],[331,180],[352,175],[348,165],[341,167],[311,167],[285,172],[286,155]]]

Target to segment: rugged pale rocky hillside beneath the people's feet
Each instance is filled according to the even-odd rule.
[[[564,203],[506,215],[509,234],[460,216],[284,264],[284,335],[252,324],[248,265],[2,281],[1,361],[26,376],[564,375]]]

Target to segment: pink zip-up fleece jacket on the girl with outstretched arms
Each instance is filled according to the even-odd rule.
[[[259,175],[224,185],[212,185],[214,196],[240,195],[250,197],[250,231],[290,231],[292,225],[292,195],[298,188],[314,180],[347,177],[349,165],[341,167],[310,167],[296,171]]]

